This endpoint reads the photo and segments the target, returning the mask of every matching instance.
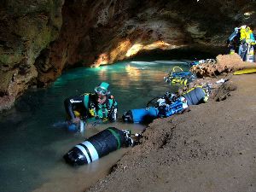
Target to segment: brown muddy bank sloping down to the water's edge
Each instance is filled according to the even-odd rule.
[[[232,76],[216,94],[223,101],[154,120],[89,191],[256,191],[255,82]]]

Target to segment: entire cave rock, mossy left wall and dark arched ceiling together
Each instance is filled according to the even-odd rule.
[[[254,8],[252,0],[3,0],[0,111],[69,67],[152,49],[224,47],[235,26],[255,23]]]

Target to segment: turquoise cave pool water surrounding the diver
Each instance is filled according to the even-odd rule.
[[[63,73],[48,89],[29,90],[15,107],[0,114],[0,191],[83,191],[106,175],[127,148],[88,166],[71,167],[62,155],[75,144],[108,127],[97,125],[84,135],[53,125],[65,119],[63,101],[83,94],[106,81],[119,103],[119,118],[125,110],[144,108],[154,96],[177,90],[163,77],[184,61],[122,61],[98,68],[76,68]],[[119,129],[143,131],[145,125],[113,123]]]

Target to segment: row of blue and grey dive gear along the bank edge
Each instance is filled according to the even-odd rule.
[[[181,96],[166,92],[164,96],[151,99],[146,108],[131,109],[125,112],[122,119],[130,123],[150,123],[153,119],[170,117],[176,113],[183,113],[190,105],[207,102],[210,92],[210,84],[195,86]]]

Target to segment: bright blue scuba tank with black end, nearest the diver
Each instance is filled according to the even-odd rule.
[[[158,115],[157,108],[138,108],[131,109],[128,112],[125,112],[122,116],[122,119],[125,122],[131,123],[148,123],[153,119],[156,119]]]

